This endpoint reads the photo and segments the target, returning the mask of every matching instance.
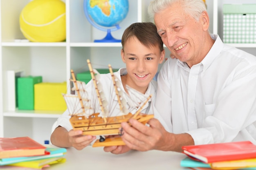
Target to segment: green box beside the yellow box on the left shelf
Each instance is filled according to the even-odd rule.
[[[42,80],[42,76],[18,78],[18,109],[34,110],[34,84],[40,83]]]

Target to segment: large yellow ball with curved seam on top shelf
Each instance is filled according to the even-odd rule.
[[[33,0],[20,13],[20,30],[32,42],[66,39],[66,8],[61,0]]]

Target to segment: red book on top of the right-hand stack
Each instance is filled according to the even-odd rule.
[[[182,146],[182,149],[204,163],[256,158],[256,145],[250,141]]]

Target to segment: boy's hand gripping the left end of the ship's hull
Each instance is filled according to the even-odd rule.
[[[68,132],[69,142],[77,150],[82,150],[96,139],[96,136],[82,135],[82,133],[82,130],[70,130]]]

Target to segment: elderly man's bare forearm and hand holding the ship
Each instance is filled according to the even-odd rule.
[[[163,150],[182,152],[182,146],[194,145],[193,138],[187,134],[173,134],[167,132],[157,119],[150,119],[148,126],[144,126],[135,119],[130,119],[131,126],[121,124],[124,135],[123,141],[130,149],[139,151]]]

